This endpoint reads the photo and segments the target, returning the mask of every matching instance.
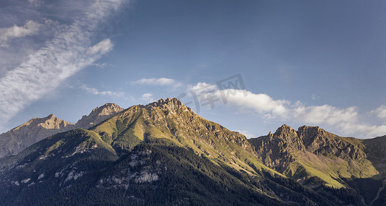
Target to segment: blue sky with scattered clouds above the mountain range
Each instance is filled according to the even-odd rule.
[[[0,132],[51,113],[75,123],[106,102],[179,96],[247,137],[282,124],[386,135],[385,9],[384,1],[1,1]],[[235,75],[245,87],[217,86]]]

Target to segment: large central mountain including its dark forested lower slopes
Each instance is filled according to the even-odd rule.
[[[334,194],[325,192],[323,194]],[[0,205],[342,205],[264,165],[177,99],[136,105],[0,159]]]

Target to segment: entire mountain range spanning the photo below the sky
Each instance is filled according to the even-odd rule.
[[[175,98],[35,118],[0,141],[0,205],[386,203],[386,136],[283,125],[247,139]]]

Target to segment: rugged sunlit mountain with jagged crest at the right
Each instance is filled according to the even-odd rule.
[[[366,204],[376,198],[386,176],[386,137],[356,139],[317,126],[296,131],[283,125],[249,142],[258,159],[277,172],[315,190],[321,185],[356,190]]]

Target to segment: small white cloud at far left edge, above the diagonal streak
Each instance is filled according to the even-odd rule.
[[[12,38],[37,34],[40,26],[40,23],[27,21],[27,23],[21,27],[13,25],[8,28],[0,28],[0,47],[8,47],[8,41]]]

